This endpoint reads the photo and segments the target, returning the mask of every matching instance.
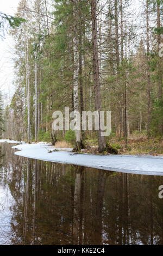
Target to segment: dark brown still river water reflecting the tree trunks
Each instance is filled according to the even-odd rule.
[[[163,245],[163,176],[14,155],[0,145],[0,244]]]

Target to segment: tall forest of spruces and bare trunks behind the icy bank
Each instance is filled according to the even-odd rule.
[[[2,137],[115,154],[137,138],[143,151],[162,154],[162,7],[162,0],[21,0],[15,16],[23,22],[9,30],[15,93]],[[111,111],[110,136],[54,131],[52,114],[65,107]]]

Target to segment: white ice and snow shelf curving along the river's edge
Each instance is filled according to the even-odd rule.
[[[79,166],[92,167],[97,169],[112,170],[117,172],[163,175],[163,157],[148,155],[91,155],[74,154],[72,149],[48,153],[54,147],[45,143],[20,144],[12,147],[21,151],[15,152],[16,155],[39,159],[43,161],[76,164]],[[57,148],[60,150],[60,148]]]

